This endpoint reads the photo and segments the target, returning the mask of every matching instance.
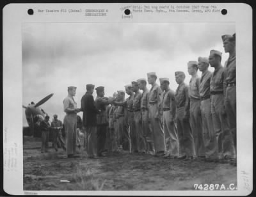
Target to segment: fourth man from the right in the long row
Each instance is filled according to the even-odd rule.
[[[189,81],[189,123],[193,134],[195,144],[195,158],[205,157],[204,139],[202,133],[202,116],[200,111],[200,77],[197,75],[198,63],[197,61],[188,62],[188,74],[191,75]]]

